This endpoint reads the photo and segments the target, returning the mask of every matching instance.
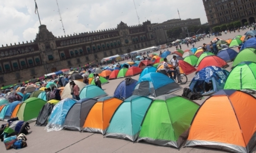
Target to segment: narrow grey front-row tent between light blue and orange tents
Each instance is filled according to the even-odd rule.
[[[74,103],[67,112],[63,127],[69,130],[82,131],[84,121],[96,102],[96,99],[85,98]]]

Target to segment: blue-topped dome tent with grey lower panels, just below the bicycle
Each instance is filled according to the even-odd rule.
[[[173,79],[162,73],[151,72],[138,80],[133,95],[158,97],[178,89],[181,87]]]

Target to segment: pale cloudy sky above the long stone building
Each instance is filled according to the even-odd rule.
[[[140,23],[200,18],[206,23],[202,0],[134,0]],[[182,1],[182,3],[180,3]],[[36,0],[41,24],[54,36],[64,36],[56,0]],[[138,24],[133,0],[58,0],[66,35],[116,28],[121,21]],[[34,0],[1,0],[0,45],[34,40],[40,26]]]

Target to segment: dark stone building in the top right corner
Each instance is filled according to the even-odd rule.
[[[255,23],[255,0],[203,0],[209,27],[227,24],[232,21]]]

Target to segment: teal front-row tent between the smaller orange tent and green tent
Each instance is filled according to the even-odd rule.
[[[106,131],[106,137],[135,141],[140,126],[152,99],[132,96],[126,99],[115,111]]]

